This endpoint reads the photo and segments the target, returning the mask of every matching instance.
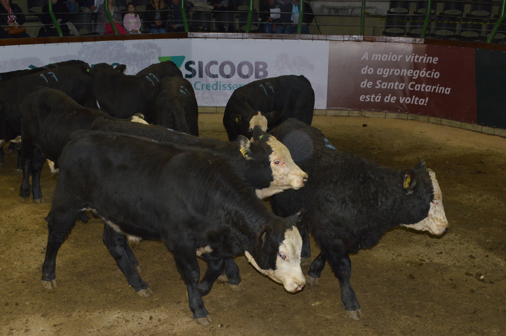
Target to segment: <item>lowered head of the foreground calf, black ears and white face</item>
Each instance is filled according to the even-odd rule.
[[[305,211],[288,217],[300,221]],[[304,287],[306,278],[301,269],[302,238],[294,221],[282,219],[265,227],[244,254],[260,273],[282,283],[287,292]]]

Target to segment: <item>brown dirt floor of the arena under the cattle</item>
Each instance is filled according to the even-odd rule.
[[[201,114],[201,135],[225,139],[221,119]],[[23,203],[8,154],[0,169],[0,335],[506,335],[506,139],[398,119],[317,116],[313,125],[336,148],[380,165],[411,168],[425,158],[443,191],[446,235],[396,228],[351,256],[361,320],[346,317],[328,265],[319,286],[293,295],[239,256],[245,290],[215,284],[204,298],[213,323],[199,326],[164,245],[135,249],[153,290],[142,298],[102,244],[98,220],[76,224],[57,258],[58,287],[46,290],[44,217],[56,180],[45,167],[47,202]]]

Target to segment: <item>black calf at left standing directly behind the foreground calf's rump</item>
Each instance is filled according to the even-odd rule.
[[[21,110],[21,169],[23,182],[20,196],[30,196],[30,175],[34,203],[43,202],[40,190],[40,172],[44,160],[48,159],[58,167],[58,157],[70,141],[70,134],[80,129],[90,129],[97,119],[116,120],[98,109],[89,109],[77,104],[65,92],[39,87],[20,104]],[[146,123],[134,116],[129,121]],[[52,170],[53,167],[51,167]]]

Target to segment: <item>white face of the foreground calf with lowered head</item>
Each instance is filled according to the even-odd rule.
[[[262,269],[255,259],[247,252],[244,255],[260,273],[267,275],[276,282],[282,283],[287,292],[294,293],[302,290],[306,278],[301,269],[302,238],[299,230],[293,226],[285,232],[285,239],[279,245],[276,258],[276,269]]]

